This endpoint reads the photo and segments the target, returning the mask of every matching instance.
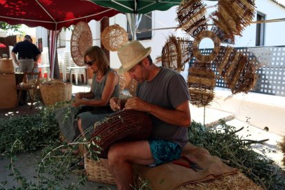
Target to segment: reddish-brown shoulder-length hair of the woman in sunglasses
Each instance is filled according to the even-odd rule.
[[[109,70],[109,60],[101,47],[98,47],[97,45],[89,47],[84,54],[84,63],[86,61],[86,56],[89,56],[90,59],[96,61],[96,64],[98,64],[98,70],[103,72],[103,74],[106,74]]]

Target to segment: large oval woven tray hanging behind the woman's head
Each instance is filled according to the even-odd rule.
[[[91,47],[92,44],[92,32],[89,25],[85,22],[77,23],[72,31],[70,40],[70,52],[76,65],[84,66],[85,51]]]

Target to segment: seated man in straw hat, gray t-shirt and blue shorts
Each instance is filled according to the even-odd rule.
[[[151,47],[139,41],[127,43],[118,50],[122,66],[138,81],[136,96],[127,100],[110,99],[114,110],[134,109],[147,112],[153,123],[147,140],[114,143],[107,154],[107,169],[114,175],[118,189],[132,189],[131,163],[156,166],[180,158],[188,142],[187,127],[191,123],[190,95],[184,78],[173,70],[152,63]]]

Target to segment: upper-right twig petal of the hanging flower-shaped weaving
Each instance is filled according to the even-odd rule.
[[[213,12],[212,19],[229,39],[234,40],[234,35],[242,36],[242,30],[250,25],[254,15],[254,0],[219,0],[218,11]]]

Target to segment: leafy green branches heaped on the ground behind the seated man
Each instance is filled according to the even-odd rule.
[[[257,154],[251,148],[251,144],[262,143],[262,140],[242,139],[237,136],[237,131],[224,121],[215,129],[193,121],[189,127],[189,142],[204,147],[213,156],[228,160],[227,165],[240,169],[244,175],[264,189],[285,189],[285,180],[281,176],[282,169],[274,165],[273,160]]]

